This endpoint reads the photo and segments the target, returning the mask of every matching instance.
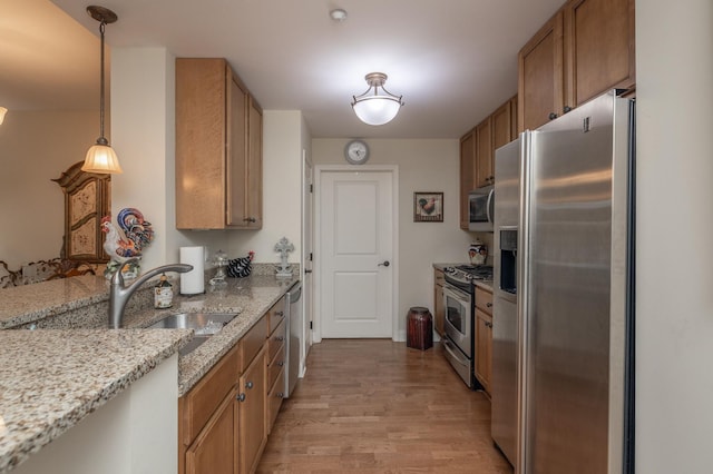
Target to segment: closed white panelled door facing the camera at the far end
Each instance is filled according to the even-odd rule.
[[[321,337],[393,335],[393,172],[320,174]]]

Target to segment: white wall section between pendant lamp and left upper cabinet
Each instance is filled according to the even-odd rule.
[[[124,169],[111,178],[111,215],[135,207],[152,223],[141,270],[178,261],[180,246],[227,248],[227,233],[176,230],[174,70],[164,48],[111,51],[111,145]]]

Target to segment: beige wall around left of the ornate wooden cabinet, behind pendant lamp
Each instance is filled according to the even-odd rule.
[[[0,260],[13,270],[59,257],[65,195],[51,179],[85,159],[99,112],[10,110],[0,126]]]

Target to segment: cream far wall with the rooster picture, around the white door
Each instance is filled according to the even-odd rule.
[[[312,140],[314,165],[345,164],[348,139]],[[459,227],[460,142],[452,140],[367,140],[369,165],[399,167],[399,303],[400,336],[406,334],[406,315],[411,306],[433,312],[433,263],[465,263],[473,234]],[[443,192],[443,221],[414,223],[413,192]],[[319,251],[319,249],[318,249]],[[316,288],[319,290],[319,288]]]

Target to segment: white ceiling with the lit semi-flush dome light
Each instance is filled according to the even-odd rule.
[[[517,92],[517,52],[564,0],[106,0],[111,47],[224,57],[268,110],[302,110],[315,138],[457,138]],[[97,107],[88,0],[0,0],[0,105]],[[77,22],[68,18],[61,10]],[[344,22],[330,10],[348,12]],[[406,106],[361,124],[364,75]]]

